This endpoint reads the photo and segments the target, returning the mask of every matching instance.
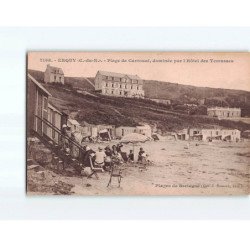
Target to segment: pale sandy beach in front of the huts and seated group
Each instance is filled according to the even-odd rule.
[[[103,147],[114,143],[100,143]],[[90,144],[96,150],[100,144]],[[249,193],[250,142],[150,141],[135,146],[135,156],[143,147],[152,164],[146,170],[138,164],[123,164],[121,187],[117,178],[107,187],[109,173],[71,176],[44,170],[45,182],[66,183],[72,195],[246,195]],[[123,151],[133,149],[131,144]],[[28,172],[29,180],[29,172]],[[29,189],[28,189],[29,190]],[[43,194],[30,192],[28,194]],[[47,192],[46,194],[55,194]]]

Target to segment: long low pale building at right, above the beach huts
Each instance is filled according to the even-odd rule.
[[[207,108],[207,115],[219,119],[237,118],[241,117],[241,109],[224,107]]]

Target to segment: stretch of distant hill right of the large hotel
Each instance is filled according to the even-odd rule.
[[[206,106],[239,107],[242,116],[250,116],[250,92],[243,90],[195,87],[177,83],[145,80],[145,95],[170,99],[174,104],[193,103]]]

